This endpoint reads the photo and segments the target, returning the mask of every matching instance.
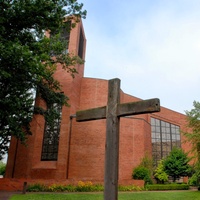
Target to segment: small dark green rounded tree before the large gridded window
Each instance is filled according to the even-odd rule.
[[[175,182],[180,176],[187,176],[190,173],[189,161],[190,159],[182,149],[173,148],[163,161],[164,171],[172,176],[173,182]]]

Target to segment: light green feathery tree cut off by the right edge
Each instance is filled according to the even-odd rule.
[[[200,102],[193,102],[194,108],[191,111],[186,111],[188,132],[184,132],[186,141],[192,146],[192,153],[195,158],[195,174],[197,177],[197,184],[200,183]]]

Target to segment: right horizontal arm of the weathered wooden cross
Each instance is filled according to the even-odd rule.
[[[128,115],[138,115],[145,113],[153,113],[160,111],[160,100],[149,99],[142,100],[131,103],[123,103],[118,105],[118,117],[128,116]]]

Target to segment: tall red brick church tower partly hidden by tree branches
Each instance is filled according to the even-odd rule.
[[[76,24],[70,32],[67,51],[85,58],[86,38],[82,22]],[[59,142],[53,145],[45,144],[51,136],[45,136],[45,120],[43,116],[35,115],[31,123],[32,136],[28,138],[25,147],[15,138],[11,139],[6,178],[26,179],[63,179],[68,169],[68,143],[70,134],[70,115],[79,108],[81,80],[84,64],[75,66],[78,74],[75,78],[57,66],[55,78],[62,85],[62,91],[69,97],[70,107],[63,106],[59,129]],[[36,104],[43,105],[40,99]],[[58,131],[58,130],[57,130]],[[52,141],[51,141],[52,142]],[[47,143],[51,143],[50,141]],[[49,156],[47,156],[47,154]]]

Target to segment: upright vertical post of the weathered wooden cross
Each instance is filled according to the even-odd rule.
[[[112,79],[108,85],[106,112],[106,145],[104,171],[104,200],[118,198],[119,120],[117,108],[120,101],[120,80]]]

